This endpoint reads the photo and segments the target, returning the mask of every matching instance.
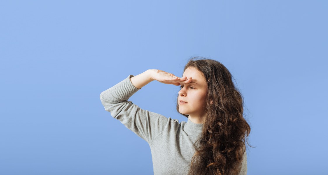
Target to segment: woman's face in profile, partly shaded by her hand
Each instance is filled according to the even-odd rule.
[[[180,83],[179,112],[192,117],[202,117],[206,111],[206,80],[203,73],[194,67],[188,67],[182,77],[185,76],[192,78],[190,83]],[[181,103],[181,100],[187,103]]]

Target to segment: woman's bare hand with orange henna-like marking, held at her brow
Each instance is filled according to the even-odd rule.
[[[150,78],[152,80],[157,80],[164,84],[174,84],[176,86],[179,86],[180,83],[182,82],[183,83],[191,82],[191,77],[176,77],[175,75],[171,73],[167,73],[162,70],[158,70],[158,69],[150,69],[150,70],[151,70]]]

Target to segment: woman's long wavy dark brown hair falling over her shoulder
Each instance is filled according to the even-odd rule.
[[[243,98],[222,63],[197,56],[189,59],[184,71],[188,67],[203,73],[208,88],[202,135],[193,145],[188,175],[237,175],[251,131],[243,118]],[[180,113],[178,99],[176,110]]]

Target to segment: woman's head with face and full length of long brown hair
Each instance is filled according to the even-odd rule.
[[[185,76],[195,83],[181,83],[177,112],[199,117],[204,124],[189,174],[238,174],[251,128],[243,118],[243,98],[231,73],[216,60],[194,57],[185,65]],[[179,104],[180,100],[188,103]]]

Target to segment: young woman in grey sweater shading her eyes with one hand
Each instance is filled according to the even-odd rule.
[[[198,59],[200,58],[200,59]],[[143,110],[128,99],[151,81],[180,86],[176,119]],[[149,69],[100,94],[106,111],[149,143],[155,175],[246,175],[243,99],[220,62],[191,58],[182,77]]]

